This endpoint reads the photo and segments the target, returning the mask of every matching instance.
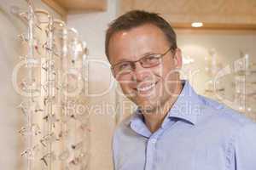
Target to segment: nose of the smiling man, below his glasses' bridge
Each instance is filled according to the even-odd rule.
[[[150,77],[151,71],[148,68],[144,68],[140,62],[135,64],[135,69],[133,71],[133,80],[137,82],[142,82],[143,80]]]

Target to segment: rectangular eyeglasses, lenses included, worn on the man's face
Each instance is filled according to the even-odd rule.
[[[173,48],[170,47],[164,54],[148,54],[141,59],[136,61],[122,61],[117,64],[111,66],[111,70],[113,71],[114,76],[123,76],[131,73],[136,68],[135,63],[139,62],[143,68],[151,68],[157,65],[160,65],[160,60],[169,52],[172,51]]]

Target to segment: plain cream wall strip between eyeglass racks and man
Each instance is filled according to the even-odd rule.
[[[104,53],[105,31],[116,16],[116,0],[108,0],[108,10],[86,14],[68,14],[67,26],[79,31],[89,48],[89,93],[102,94],[90,97],[90,169],[113,169],[112,135],[115,127],[113,81]],[[110,89],[108,89],[110,88]]]

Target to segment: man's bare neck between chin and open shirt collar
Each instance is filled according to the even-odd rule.
[[[177,88],[173,93],[174,95],[172,95],[172,97],[170,97],[170,99],[168,99],[163,105],[158,106],[154,111],[143,111],[144,121],[151,133],[154,133],[160,128],[168,114],[168,111],[171,110],[172,105],[176,102],[178,94],[181,93],[182,88],[182,82],[178,82]]]

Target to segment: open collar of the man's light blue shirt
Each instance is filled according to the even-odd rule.
[[[165,127],[170,119],[173,118],[183,120],[183,122],[189,122],[195,125],[197,116],[201,114],[201,105],[203,103],[200,99],[200,96],[195,93],[195,90],[190,86],[188,81],[182,80],[182,83],[182,92],[178,95],[176,102],[172,105],[172,109],[168,111],[167,116],[162,123],[162,127]],[[140,127],[141,131],[145,131],[145,128],[142,127],[142,125],[144,124],[143,115],[138,109],[135,114],[131,116],[130,122],[128,123],[132,128]],[[146,125],[144,124],[143,126]],[[150,132],[148,131],[142,133],[149,134]]]

